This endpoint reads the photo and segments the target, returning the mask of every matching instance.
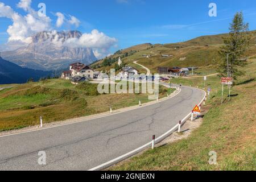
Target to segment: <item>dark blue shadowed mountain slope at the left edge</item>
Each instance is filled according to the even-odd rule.
[[[34,78],[34,81],[38,81],[40,77],[47,77],[51,75],[51,73],[52,72],[22,68],[0,57],[0,84],[22,84],[27,82],[30,78]]]

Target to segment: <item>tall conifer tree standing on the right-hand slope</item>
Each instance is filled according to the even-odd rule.
[[[222,76],[236,79],[243,75],[241,67],[246,65],[245,51],[250,45],[249,24],[244,23],[242,12],[236,13],[229,28],[229,36],[224,39],[224,46],[219,51],[222,64],[218,70]]]

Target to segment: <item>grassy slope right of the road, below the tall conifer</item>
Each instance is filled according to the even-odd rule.
[[[208,77],[212,91],[211,107],[204,122],[192,135],[178,142],[121,163],[113,170],[255,170],[256,169],[256,60],[246,67],[246,76],[232,88],[232,100],[220,104],[221,84],[217,76]],[[177,79],[186,85],[203,86],[203,78]],[[217,165],[208,164],[209,151],[217,152]]]

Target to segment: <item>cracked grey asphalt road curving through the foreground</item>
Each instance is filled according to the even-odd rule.
[[[71,125],[0,137],[0,170],[88,170],[166,133],[204,97],[183,87],[180,94],[136,110]],[[45,166],[38,152],[46,152]]]

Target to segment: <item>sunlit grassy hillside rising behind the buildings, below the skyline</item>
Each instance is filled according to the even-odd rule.
[[[251,31],[251,47],[247,51],[247,56],[253,56],[256,51],[256,31]],[[157,72],[158,67],[218,67],[221,63],[221,58],[218,55],[220,46],[223,44],[222,38],[228,34],[200,36],[187,42],[172,43],[172,44],[141,44],[133,46],[121,51],[117,51],[113,56],[108,57],[122,57],[125,64],[136,67],[133,61],[147,65],[152,73]],[[127,53],[131,55],[127,56]],[[151,55],[150,58],[142,55]],[[162,54],[172,55],[171,57],[163,58]],[[99,71],[109,72],[114,68],[115,62],[109,65],[102,65],[104,60],[97,61],[92,66]],[[97,65],[97,66],[96,66]],[[139,68],[138,68],[139,69]],[[143,69],[139,69],[142,73]]]

